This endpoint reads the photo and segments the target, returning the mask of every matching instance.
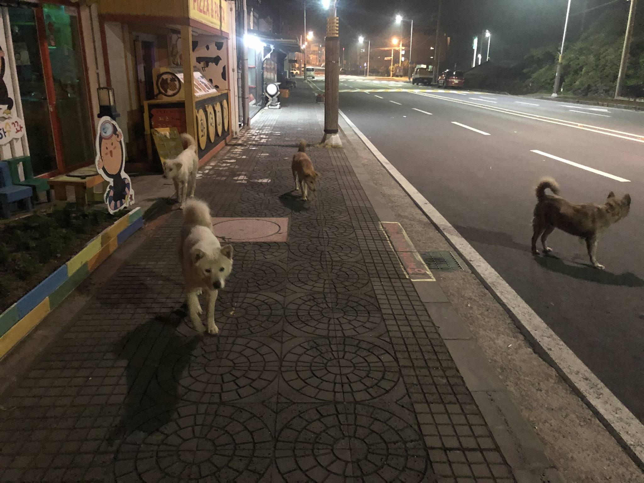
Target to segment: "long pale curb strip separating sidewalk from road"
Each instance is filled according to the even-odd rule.
[[[596,375],[564,344],[553,330],[548,327],[527,303],[520,298],[515,290],[484,260],[465,238],[439,213],[433,205],[401,173],[378,151],[377,147],[361,133],[345,113],[340,115],[366,146],[374,153],[380,164],[389,171],[404,191],[436,225],[451,245],[460,252],[469,265],[478,273],[489,289],[495,292],[506,309],[513,314],[516,321],[540,345],[560,374],[580,393],[583,400],[600,413],[600,421],[611,427],[623,444],[628,446],[630,453],[638,460],[639,466],[644,463],[644,425],[624,406],[619,399],[598,379]]]

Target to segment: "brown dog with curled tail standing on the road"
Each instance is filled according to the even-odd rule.
[[[554,196],[545,194],[550,189]],[[619,222],[630,210],[630,194],[617,198],[611,191],[605,204],[596,205],[586,203],[575,205],[564,200],[559,194],[559,185],[553,178],[543,178],[536,187],[535,218],[532,226],[535,230],[532,236],[532,252],[539,254],[536,249],[536,240],[541,236],[544,254],[552,249],[545,245],[545,240],[555,228],[579,236],[586,240],[588,256],[592,266],[603,270],[604,266],[597,261],[597,238],[613,223]]]

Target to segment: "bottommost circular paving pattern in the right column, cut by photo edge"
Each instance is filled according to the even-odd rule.
[[[278,470],[288,473],[289,481],[419,483],[431,476],[417,429],[363,404],[327,404],[299,413],[279,433],[276,448]]]

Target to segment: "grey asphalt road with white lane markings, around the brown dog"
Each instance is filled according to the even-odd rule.
[[[351,77],[340,89],[345,115],[644,421],[644,113]],[[531,254],[542,176],[572,202],[632,196],[600,239],[605,271],[561,231],[553,256]]]

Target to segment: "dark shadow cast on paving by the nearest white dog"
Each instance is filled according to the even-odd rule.
[[[202,339],[198,335],[186,337],[176,330],[185,316],[184,306],[170,314],[158,315],[128,332],[114,345],[113,351],[119,358],[128,361],[125,372],[128,393],[120,422],[109,434],[110,444],[118,444],[137,430],[152,433],[171,421],[181,401],[178,381],[170,379],[174,385],[166,384],[161,389],[154,380],[166,363],[164,354],[178,347],[193,352]],[[173,370],[181,374],[188,364],[189,358],[180,358],[173,363]]]

